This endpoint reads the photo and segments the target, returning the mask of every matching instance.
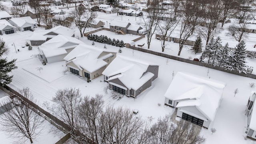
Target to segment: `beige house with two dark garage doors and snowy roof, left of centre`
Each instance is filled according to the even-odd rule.
[[[79,44],[64,57],[68,71],[90,79],[102,75],[108,64],[116,58],[116,52]]]

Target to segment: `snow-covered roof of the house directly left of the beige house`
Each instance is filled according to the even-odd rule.
[[[65,46],[66,43],[69,43],[69,46]],[[70,36],[63,36],[59,34],[41,46],[38,46],[38,50],[42,52],[46,58],[48,58],[61,54],[67,54],[68,52],[66,49],[75,48],[78,44],[84,44],[84,42]]]

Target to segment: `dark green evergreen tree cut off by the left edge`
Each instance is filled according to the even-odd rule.
[[[12,77],[8,75],[13,69],[16,69],[15,66],[16,59],[8,62],[6,58],[6,54],[8,52],[8,48],[5,46],[5,42],[0,42],[0,85],[5,86],[6,84],[10,84],[12,82]]]

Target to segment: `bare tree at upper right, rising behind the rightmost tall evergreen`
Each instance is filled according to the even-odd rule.
[[[240,20],[239,20],[240,21]],[[241,40],[248,37],[248,33],[246,32],[247,29],[247,20],[243,20],[241,23],[238,21],[234,22],[231,26],[228,28],[228,35],[234,37],[235,40],[240,42]]]

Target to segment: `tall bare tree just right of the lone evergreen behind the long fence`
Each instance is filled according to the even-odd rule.
[[[221,18],[222,5],[220,0],[215,0],[207,4],[204,8],[204,20],[201,24],[205,28],[200,28],[200,34],[206,40],[206,45],[208,41],[217,31],[217,24],[222,19]]]

